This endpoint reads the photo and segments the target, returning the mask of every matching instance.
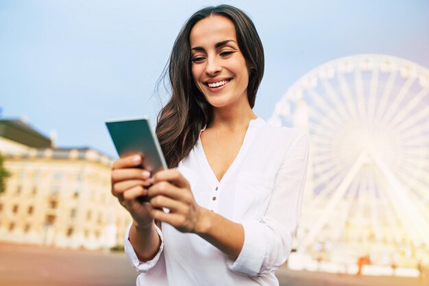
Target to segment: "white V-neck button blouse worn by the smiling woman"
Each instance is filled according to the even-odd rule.
[[[158,254],[142,262],[128,228],[125,253],[142,272],[137,285],[279,285],[274,270],[291,252],[307,167],[308,137],[260,118],[250,121],[241,150],[220,181],[198,140],[177,168],[197,204],[243,225],[243,248],[232,261],[198,235],[162,223]]]

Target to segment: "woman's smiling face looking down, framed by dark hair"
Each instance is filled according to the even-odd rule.
[[[241,53],[234,23],[224,16],[208,16],[191,29],[192,75],[215,107],[249,105],[249,71]]]

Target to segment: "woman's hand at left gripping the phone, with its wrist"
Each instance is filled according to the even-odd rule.
[[[150,172],[141,169],[143,155],[132,155],[120,158],[112,167],[112,194],[118,198],[123,207],[130,212],[134,224],[140,228],[149,228],[154,224],[149,202],[140,202],[138,197],[147,195],[151,185]]]

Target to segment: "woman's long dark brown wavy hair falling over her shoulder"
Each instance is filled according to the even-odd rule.
[[[189,44],[191,29],[210,15],[225,16],[234,23],[238,47],[250,71],[247,97],[251,108],[255,105],[256,92],[264,74],[264,49],[254,23],[245,12],[230,5],[212,6],[195,12],[177,35],[168,69],[161,77],[165,80],[168,76],[171,98],[158,115],[156,135],[169,168],[177,167],[180,160],[191,152],[201,129],[212,121],[212,106],[193,80]]]

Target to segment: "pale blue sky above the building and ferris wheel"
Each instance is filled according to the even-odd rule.
[[[256,114],[269,119],[289,86],[343,56],[384,53],[429,68],[429,1],[0,0],[0,107],[61,147],[116,156],[106,119],[149,115],[177,32],[206,5],[247,12],[265,47]]]

